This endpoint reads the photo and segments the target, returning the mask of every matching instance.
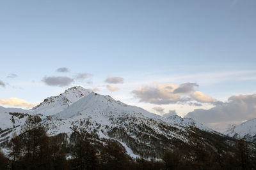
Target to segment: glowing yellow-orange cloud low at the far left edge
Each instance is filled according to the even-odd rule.
[[[24,99],[19,99],[16,97],[11,97],[9,99],[0,99],[0,104],[8,105],[8,106],[20,106],[26,108],[32,108],[38,104],[32,104]]]

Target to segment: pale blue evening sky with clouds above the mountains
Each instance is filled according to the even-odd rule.
[[[0,106],[81,85],[224,131],[256,118],[256,1],[0,1]]]

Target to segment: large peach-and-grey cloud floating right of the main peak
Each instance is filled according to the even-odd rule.
[[[194,91],[196,83],[159,84],[153,83],[150,86],[142,86],[132,91],[134,97],[140,99],[140,102],[152,104],[171,104],[188,103],[191,101],[191,94]]]

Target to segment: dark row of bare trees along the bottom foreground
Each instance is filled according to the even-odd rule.
[[[132,159],[124,146],[113,139],[73,127],[72,134],[48,136],[38,116],[29,116],[19,136],[0,152],[0,169],[256,169],[255,145],[237,140],[232,149],[216,146],[205,150],[199,139],[189,148],[166,148],[161,159]],[[195,135],[195,134],[191,134]]]

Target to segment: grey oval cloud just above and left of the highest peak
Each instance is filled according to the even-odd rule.
[[[47,85],[64,87],[70,85],[74,79],[67,76],[45,76],[42,81]]]

